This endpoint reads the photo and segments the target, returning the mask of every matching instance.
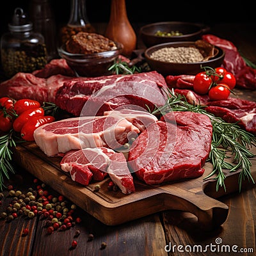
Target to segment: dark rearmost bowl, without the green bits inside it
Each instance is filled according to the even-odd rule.
[[[157,36],[157,31],[166,33],[179,31],[182,35]],[[209,27],[204,24],[179,21],[157,22],[142,26],[140,36],[146,47],[150,47],[168,42],[196,41],[207,31],[209,31]]]

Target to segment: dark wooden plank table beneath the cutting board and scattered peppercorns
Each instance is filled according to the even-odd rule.
[[[136,30],[139,25],[134,26]],[[103,29],[100,24],[99,29]],[[256,62],[256,24],[216,24],[211,33],[232,41],[246,58]],[[143,47],[140,40],[138,48]],[[238,94],[239,95],[239,94]],[[241,93],[244,99],[256,100],[256,91]],[[255,164],[255,161],[253,161]],[[11,175],[6,185],[26,192],[35,188],[35,177],[19,166],[16,174]],[[41,182],[42,183],[42,182]],[[41,184],[40,181],[38,184]],[[58,196],[54,188],[47,188],[49,193]],[[12,198],[8,191],[3,191],[0,212],[3,212]],[[255,223],[256,223],[256,186],[250,184],[240,193],[218,198],[229,207],[228,217],[221,227],[205,231],[198,227],[196,217],[188,212],[164,211],[150,216],[130,221],[115,227],[106,226],[90,214],[77,208],[74,218],[80,217],[81,223],[65,231],[47,234],[45,219],[29,219],[19,216],[6,223],[0,220],[0,255],[236,255],[232,248],[240,251],[239,255],[255,255]],[[22,236],[22,230],[28,228],[28,236]],[[81,234],[74,238],[76,230]],[[89,234],[93,240],[88,241]],[[73,240],[77,247],[70,250]],[[106,248],[102,249],[102,243]],[[221,252],[220,246],[224,250]],[[232,247],[233,246],[233,247]],[[171,250],[172,247],[172,250]],[[204,252],[200,252],[200,250]],[[230,253],[225,252],[230,248]],[[182,252],[183,250],[183,252]],[[243,250],[243,252],[242,252]]]

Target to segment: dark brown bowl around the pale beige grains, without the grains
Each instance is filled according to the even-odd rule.
[[[152,52],[164,48],[164,47],[195,47],[195,42],[173,42],[166,44],[159,44],[149,47],[145,50],[144,55],[145,59],[152,70],[156,70],[163,76],[168,75],[196,75],[199,72],[202,72],[202,67],[220,67],[223,63],[225,52],[220,48],[215,46],[216,56],[210,58],[207,61],[193,62],[193,63],[174,63],[167,61],[159,61],[151,58]]]

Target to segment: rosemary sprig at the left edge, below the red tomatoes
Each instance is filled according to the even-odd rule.
[[[9,179],[8,173],[15,172],[12,166],[12,148],[21,141],[13,130],[0,137],[0,191],[3,190],[4,177]]]

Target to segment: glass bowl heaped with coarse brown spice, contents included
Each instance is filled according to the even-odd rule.
[[[77,77],[108,76],[124,46],[97,33],[79,32],[58,48]]]

